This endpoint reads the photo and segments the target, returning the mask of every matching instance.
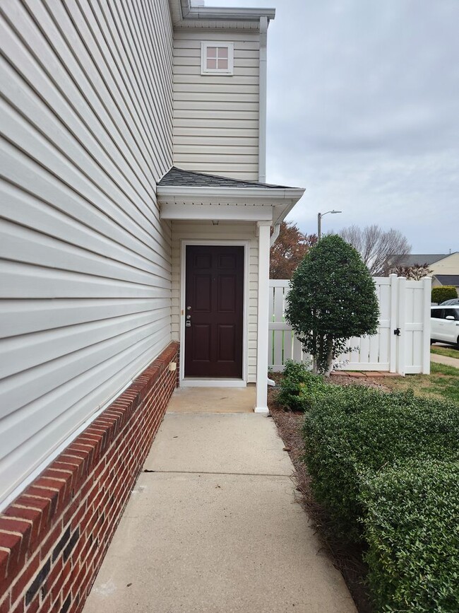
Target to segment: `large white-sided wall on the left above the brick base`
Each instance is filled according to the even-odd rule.
[[[167,0],[0,3],[0,504],[171,340]]]

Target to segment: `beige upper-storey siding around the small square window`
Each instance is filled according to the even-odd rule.
[[[201,42],[234,42],[232,76],[201,75]],[[259,35],[174,33],[174,165],[258,180]]]

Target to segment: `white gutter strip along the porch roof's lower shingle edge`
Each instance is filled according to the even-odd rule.
[[[304,194],[296,187],[187,187],[157,186],[160,204],[266,204],[294,206]]]

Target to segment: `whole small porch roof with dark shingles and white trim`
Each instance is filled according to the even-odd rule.
[[[163,219],[232,219],[280,223],[304,194],[286,187],[196,173],[172,166],[157,184]]]

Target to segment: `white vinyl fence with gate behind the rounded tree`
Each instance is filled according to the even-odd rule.
[[[386,370],[400,375],[430,373],[431,279],[407,281],[391,274],[375,277],[378,332],[352,338],[337,361],[339,370]],[[302,345],[285,322],[289,281],[270,280],[268,363],[275,372],[289,358],[303,361]]]

